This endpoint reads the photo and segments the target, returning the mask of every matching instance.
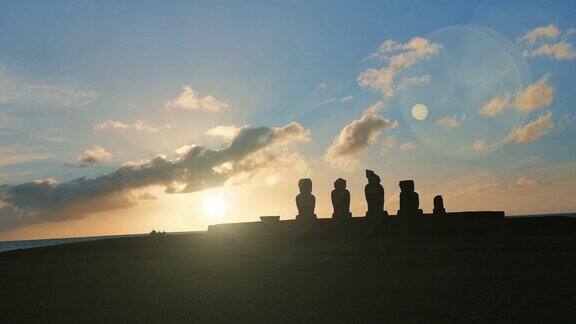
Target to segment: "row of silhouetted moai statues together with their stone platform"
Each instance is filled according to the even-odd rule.
[[[356,233],[363,235],[393,233],[449,233],[468,231],[495,231],[504,220],[503,211],[446,212],[441,195],[434,197],[431,214],[420,209],[420,198],[413,180],[402,180],[400,186],[400,209],[396,215],[388,215],[384,209],[384,187],[380,177],[366,170],[368,183],[364,187],[366,199],[365,217],[352,217],[350,213],[350,191],[346,180],[334,181],[331,193],[332,218],[317,218],[314,209],[316,197],[312,194],[312,180],[298,181],[296,196],[298,215],[293,220],[280,220],[280,216],[261,216],[261,222],[211,225],[209,232],[236,231],[261,234],[328,234]]]

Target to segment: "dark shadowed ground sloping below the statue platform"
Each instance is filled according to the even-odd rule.
[[[576,322],[576,220],[491,234],[207,233],[0,253],[0,322]]]

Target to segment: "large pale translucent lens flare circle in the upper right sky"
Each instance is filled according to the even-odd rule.
[[[476,159],[495,152],[527,114],[505,109],[490,118],[480,111],[491,99],[532,83],[522,52],[503,35],[477,25],[446,27],[425,37],[442,48],[398,76],[429,75],[427,83],[398,91],[406,124],[424,146],[445,156]],[[473,145],[479,140],[486,143],[482,150]]]

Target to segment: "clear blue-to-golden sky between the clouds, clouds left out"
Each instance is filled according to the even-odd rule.
[[[353,211],[360,213],[364,208],[362,170],[372,168],[389,189],[391,206],[397,181],[414,178],[421,195],[427,192],[424,197],[437,191],[454,192],[457,209],[571,211],[576,206],[566,200],[576,189],[574,182],[559,185],[554,179],[576,175],[576,93],[572,91],[576,60],[570,53],[558,58],[550,51],[535,51],[546,44],[574,44],[575,13],[576,3],[571,1],[3,3],[0,183],[15,186],[52,178],[61,184],[78,177],[93,178],[128,161],[170,156],[184,145],[225,147],[229,142],[222,135],[207,134],[217,126],[271,128],[296,122],[309,139],[290,143],[279,154],[297,155],[306,164],[304,171],[294,173],[286,171],[285,165],[273,165],[251,174],[250,180],[228,179],[221,190],[234,185],[230,190],[245,194],[276,190],[291,195],[297,189],[297,178],[310,176],[317,190],[323,191],[318,193],[322,198],[333,178],[344,176],[349,186],[357,187]],[[534,43],[521,40],[539,27],[548,28],[543,29],[548,36],[534,36]],[[391,96],[360,84],[362,72],[389,67],[390,58],[402,53],[402,44],[414,37],[428,40],[431,52],[401,67],[396,86],[410,77],[429,75],[429,80],[402,86]],[[386,40],[393,40],[397,47],[382,52],[380,58],[370,57]],[[502,79],[499,73],[509,74]],[[544,90],[552,89],[550,100],[521,111],[516,103],[520,92],[539,81]],[[168,107],[185,86],[200,98],[210,95],[226,103],[227,108],[213,112]],[[510,102],[497,116],[479,113],[491,98],[507,94]],[[371,113],[379,117],[363,119],[366,109],[380,101],[382,107]],[[412,118],[411,106],[418,102],[428,106],[426,122]],[[454,127],[440,127],[442,117],[448,118],[445,125]],[[526,136],[522,133],[506,139],[514,129],[539,118],[534,127],[545,130],[540,129],[536,138],[518,140]],[[122,122],[124,128],[96,130],[105,121]],[[140,126],[135,126],[137,121]],[[374,138],[364,139],[360,147],[343,143],[348,146],[333,150],[336,155],[328,153],[340,135],[354,135],[346,133],[347,126],[356,125],[348,131],[359,132],[360,125],[370,122],[375,128],[368,132]],[[94,163],[84,163],[83,154],[99,155]],[[281,180],[271,188],[259,188],[258,179],[272,173]],[[152,183],[150,190],[155,186],[163,184]],[[163,190],[155,194],[164,197]],[[182,194],[190,201],[200,195]],[[510,195],[515,203],[499,201],[492,207],[490,195]],[[550,202],[520,207],[526,197]],[[4,204],[10,207],[14,202],[9,199],[4,198]],[[282,205],[259,206],[290,218],[294,208],[291,198],[286,200]],[[163,210],[151,202],[139,203],[138,208],[143,204],[150,204],[150,210]],[[229,205],[229,210],[235,209]],[[424,206],[428,205],[426,201]],[[320,201],[319,208],[329,211],[329,200]],[[7,237],[90,234],[89,225],[97,222],[91,214],[86,217],[94,218],[92,223],[74,216],[78,232],[59,231],[70,218],[56,217],[57,222],[46,225],[51,226],[48,231],[41,226],[44,218],[39,214],[43,212],[37,208],[30,223],[10,226],[8,233],[16,230],[16,234]],[[102,219],[106,217],[113,216]],[[230,212],[219,221],[250,217],[255,216]],[[190,217],[161,226],[199,229],[210,222],[214,219]],[[26,231],[30,224],[34,230]],[[160,225],[150,217],[142,225],[131,226],[123,230],[137,232]]]

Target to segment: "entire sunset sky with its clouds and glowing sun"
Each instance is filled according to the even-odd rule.
[[[576,210],[573,1],[0,5],[0,240],[385,208]]]

